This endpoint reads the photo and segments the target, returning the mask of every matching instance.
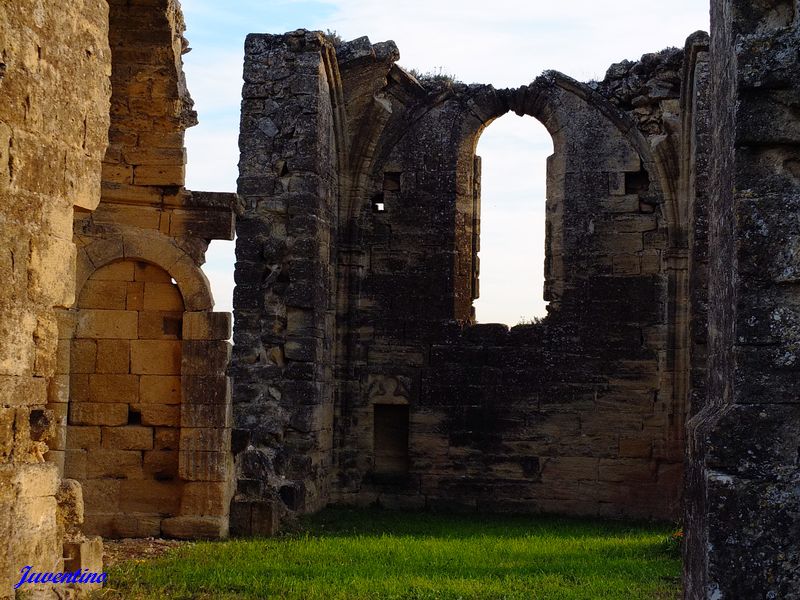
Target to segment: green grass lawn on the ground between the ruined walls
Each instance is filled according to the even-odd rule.
[[[669,525],[327,509],[281,537],[198,542],[109,570],[93,598],[657,598],[680,594]]]

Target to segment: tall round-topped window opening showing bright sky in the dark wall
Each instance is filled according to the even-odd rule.
[[[547,157],[553,140],[531,117],[509,114],[481,135],[478,299],[480,323],[510,326],[547,314],[543,298]]]

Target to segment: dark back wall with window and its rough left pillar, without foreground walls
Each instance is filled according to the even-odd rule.
[[[333,48],[304,31],[246,44],[241,530],[258,530],[254,511],[271,527],[272,503],[329,500],[677,514],[686,399],[674,381],[688,367],[669,315],[687,236],[667,214],[672,155],[651,148],[673,143],[683,53],[591,87],[553,72],[517,90],[420,83],[398,56],[392,42]],[[510,332],[472,322],[475,147],[509,110],[542,121],[555,147],[550,314]],[[408,423],[387,433],[382,414]],[[408,455],[395,456],[404,436]],[[376,464],[385,444],[407,469]]]

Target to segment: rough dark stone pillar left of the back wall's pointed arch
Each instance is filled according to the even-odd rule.
[[[239,485],[234,533],[279,509],[327,500],[336,175],[329,73],[319,33],[245,42],[232,377]],[[254,509],[253,502],[257,504]],[[270,521],[271,522],[271,521]]]

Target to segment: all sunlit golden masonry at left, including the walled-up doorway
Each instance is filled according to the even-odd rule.
[[[2,598],[25,565],[101,571],[82,530],[227,535],[230,315],[200,266],[238,205],[183,187],[183,30],[174,0],[0,7]]]

